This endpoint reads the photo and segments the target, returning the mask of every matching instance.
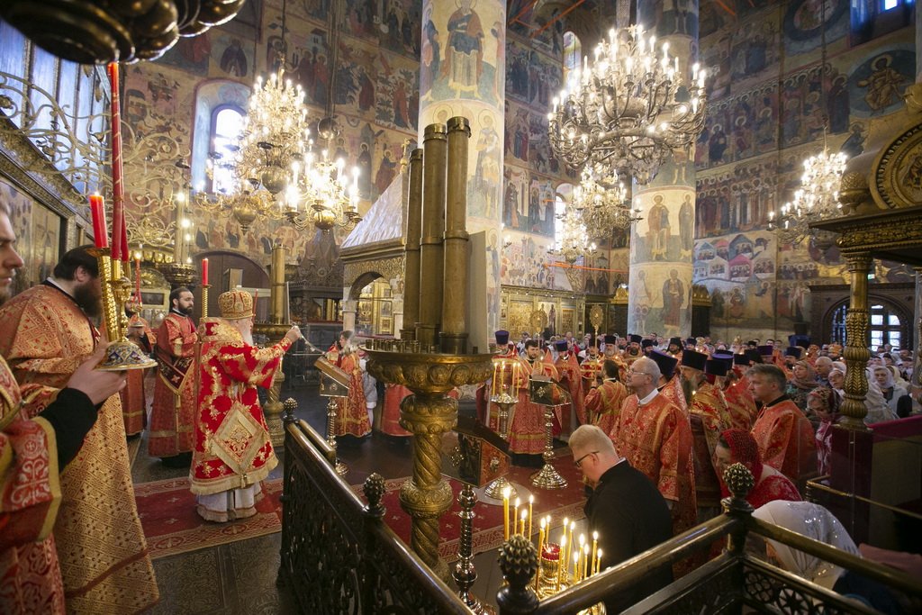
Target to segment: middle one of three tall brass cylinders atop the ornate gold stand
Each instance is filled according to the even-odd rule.
[[[422,139],[422,237],[420,239],[420,346],[435,345],[442,320],[443,233],[445,231],[445,168],[447,142],[444,124],[430,124]]]

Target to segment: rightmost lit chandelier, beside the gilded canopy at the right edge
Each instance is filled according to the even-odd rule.
[[[842,215],[839,185],[845,172],[845,160],[845,154],[833,154],[829,148],[804,160],[800,189],[794,193],[792,201],[781,207],[777,220],[774,211],[769,212],[768,228],[777,231],[784,242],[798,243],[813,236],[825,243],[828,238],[821,235],[828,231],[811,230],[810,223]]]

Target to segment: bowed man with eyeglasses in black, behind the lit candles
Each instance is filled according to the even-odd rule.
[[[644,473],[618,455],[606,432],[583,425],[570,436],[573,462],[591,488],[585,503],[589,530],[598,532],[602,568],[616,566],[672,538],[668,505]],[[668,566],[644,576],[631,590],[608,597],[609,613],[618,613],[672,582]]]

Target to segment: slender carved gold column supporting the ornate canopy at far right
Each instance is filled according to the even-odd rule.
[[[851,430],[865,430],[868,414],[865,396],[868,394],[868,274],[871,258],[868,253],[846,254],[848,272],[852,278],[852,294],[845,313],[845,400],[842,402],[841,425]]]

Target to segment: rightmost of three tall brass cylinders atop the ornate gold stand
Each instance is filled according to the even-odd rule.
[[[467,141],[466,117],[448,120],[442,331],[443,352],[467,353]]]

